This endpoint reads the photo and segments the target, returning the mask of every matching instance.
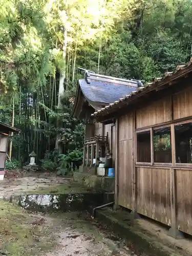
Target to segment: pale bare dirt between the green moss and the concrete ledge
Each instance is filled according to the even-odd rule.
[[[126,256],[135,255],[121,242],[114,242],[107,238],[106,234],[99,230],[93,223],[89,223],[83,216],[78,216],[78,213],[73,212],[66,219],[55,221],[55,218],[48,219],[48,223],[54,220],[54,229],[58,229],[58,244],[56,248],[46,254],[46,256],[105,256],[116,255]],[[57,216],[58,218],[58,216]],[[120,248],[122,247],[122,248]],[[124,247],[124,248],[123,248]]]

